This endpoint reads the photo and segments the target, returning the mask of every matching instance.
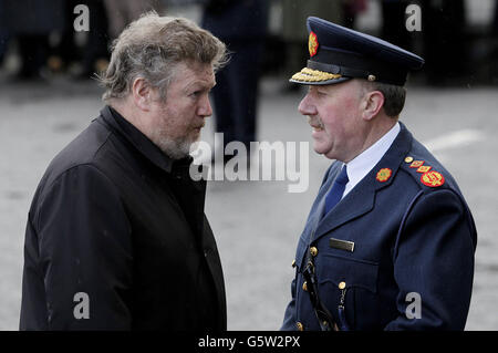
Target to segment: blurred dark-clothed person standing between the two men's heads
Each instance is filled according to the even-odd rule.
[[[203,28],[227,44],[230,62],[217,73],[212,90],[216,132],[224,133],[224,148],[232,141],[250,149],[257,141],[258,84],[268,27],[266,0],[208,0]],[[229,156],[225,156],[229,158]]]

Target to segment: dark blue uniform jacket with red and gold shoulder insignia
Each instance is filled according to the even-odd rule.
[[[325,195],[342,163],[333,163],[326,172],[299,239],[282,330],[320,330],[301,274],[311,247],[318,250],[311,259],[319,295],[335,322],[345,293],[351,330],[465,328],[475,224],[454,178],[401,125],[378,164],[322,218]],[[436,173],[423,179],[421,162]],[[380,174],[381,169],[388,170]],[[353,251],[332,247],[331,238],[354,242]],[[419,298],[417,315],[414,295]]]

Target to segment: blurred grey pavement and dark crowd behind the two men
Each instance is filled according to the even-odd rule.
[[[423,56],[401,120],[452,172],[476,219],[466,329],[498,330],[497,0],[0,0],[0,330],[18,329],[37,185],[53,156],[98,115],[95,73],[108,64],[112,41],[148,10],[189,18],[232,52],[203,132],[211,145],[215,132],[242,142],[311,141],[297,111],[304,91],[288,82],[309,56],[309,15]],[[231,92],[247,100],[229,103],[238,102]],[[310,148],[301,194],[289,194],[288,180],[209,184],[206,214],[224,264],[229,330],[280,326],[297,241],[329,165]]]

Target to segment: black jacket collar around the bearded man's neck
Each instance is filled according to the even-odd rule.
[[[172,173],[174,166],[186,167],[193,162],[190,156],[178,160],[169,158],[138,128],[108,105],[101,111],[101,116],[115,133],[124,137],[141,154],[143,154],[144,157],[167,173]]]

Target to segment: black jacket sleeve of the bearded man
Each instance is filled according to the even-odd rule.
[[[49,330],[131,328],[131,228],[115,186],[73,167],[40,204],[39,238]]]

